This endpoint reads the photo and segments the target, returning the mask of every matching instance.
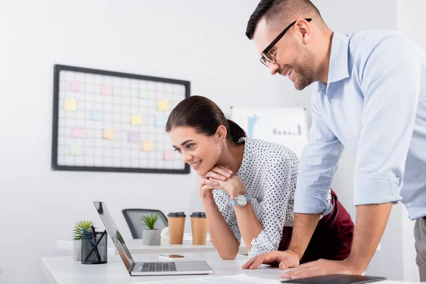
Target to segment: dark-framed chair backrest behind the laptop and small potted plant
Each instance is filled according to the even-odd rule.
[[[131,232],[133,239],[142,239],[142,232],[148,227],[143,224],[141,217],[145,215],[158,214],[158,220],[155,223],[155,229],[162,230],[168,226],[167,217],[160,210],[155,209],[124,209],[124,219],[126,219],[127,225]]]

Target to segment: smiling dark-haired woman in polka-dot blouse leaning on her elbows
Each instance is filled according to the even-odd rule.
[[[251,257],[288,248],[299,163],[292,151],[246,138],[214,102],[200,96],[173,109],[166,131],[175,151],[200,175],[200,197],[219,256],[235,258],[241,237]],[[300,263],[349,256],[354,224],[331,190],[330,202],[334,209],[320,220]]]

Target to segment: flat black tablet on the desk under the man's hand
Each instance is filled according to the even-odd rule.
[[[331,274],[315,276],[310,278],[283,280],[281,283],[299,283],[299,284],[361,284],[371,283],[376,281],[386,280],[384,277],[376,276],[362,276],[362,275],[344,275],[344,274]]]

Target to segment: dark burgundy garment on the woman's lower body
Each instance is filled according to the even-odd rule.
[[[300,264],[317,261],[320,258],[333,261],[341,261],[349,256],[351,252],[352,239],[354,236],[354,222],[343,205],[337,200],[337,195],[332,191],[332,212],[325,215],[318,222],[312,239],[307,246]],[[288,249],[293,227],[283,228],[283,239],[281,239],[278,251]]]

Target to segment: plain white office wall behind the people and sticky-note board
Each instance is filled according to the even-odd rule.
[[[396,29],[396,1],[314,2],[330,28],[348,33]],[[225,114],[232,105],[310,109],[311,88],[297,92],[286,78],[271,77],[246,39],[246,23],[257,4],[258,0],[0,1],[4,283],[43,283],[40,257],[63,254],[55,249],[55,240],[70,239],[78,219],[101,224],[92,200],[107,202],[124,238],[131,235],[121,209],[151,207],[166,213],[202,209],[194,173],[51,171],[53,65],[190,80],[192,94],[210,97]],[[352,216],[353,172],[354,158],[345,152],[333,188]],[[391,224],[400,226],[400,215],[396,212]],[[186,228],[190,229],[188,223]],[[398,228],[388,226],[383,239],[394,234]],[[402,279],[398,246],[398,238],[396,243],[382,243],[368,273]],[[16,263],[22,266],[18,269]]]

